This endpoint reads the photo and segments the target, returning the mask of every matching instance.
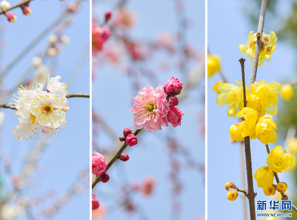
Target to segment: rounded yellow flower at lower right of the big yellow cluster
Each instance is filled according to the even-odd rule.
[[[277,134],[274,129],[277,127],[271,118],[271,115],[265,115],[256,124],[255,135],[263,144],[276,142]]]

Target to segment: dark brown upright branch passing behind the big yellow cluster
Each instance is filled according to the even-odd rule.
[[[238,60],[241,65],[241,75],[242,75],[242,87],[243,87],[243,106],[247,106],[246,91],[245,91],[245,77],[244,77],[244,61],[245,59],[240,58]],[[248,197],[248,205],[250,208],[250,219],[256,220],[256,209],[255,209],[255,197],[257,193],[254,192],[253,183],[253,171],[252,171],[252,156],[251,156],[251,146],[250,137],[244,137],[244,151],[245,151],[245,163],[247,168],[247,179],[248,179],[248,193],[245,194]]]

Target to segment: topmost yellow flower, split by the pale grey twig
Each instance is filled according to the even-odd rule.
[[[240,51],[243,54],[248,55],[248,57],[251,58],[251,65],[253,65],[254,56],[255,56],[255,46],[256,46],[256,40],[257,40],[257,33],[253,34],[253,31],[250,32],[248,35],[248,44],[240,44],[238,45]],[[262,42],[261,42],[261,48],[260,48],[260,54],[259,54],[259,62],[258,66],[262,66],[264,64],[264,60],[267,62],[271,61],[271,54],[273,53],[274,49],[276,48],[276,40],[277,36],[273,31],[270,32],[269,35],[262,33]]]

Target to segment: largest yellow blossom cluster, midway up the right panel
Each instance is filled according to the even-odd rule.
[[[247,107],[243,107],[243,86],[237,80],[237,86],[231,83],[222,83],[218,90],[217,104],[229,105],[228,116],[235,115],[242,119],[230,126],[230,137],[235,141],[242,141],[244,137],[259,139],[262,143],[274,143],[277,139],[275,129],[277,126],[271,119],[271,115],[278,112],[277,100],[281,85],[278,82],[265,83],[264,79],[258,80],[251,85],[251,90],[246,86]]]

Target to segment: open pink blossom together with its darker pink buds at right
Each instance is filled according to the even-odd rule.
[[[178,78],[170,78],[163,88],[159,84],[156,89],[147,85],[133,97],[134,106],[130,112],[134,117],[134,126],[136,129],[142,129],[149,132],[161,130],[162,126],[168,126],[171,123],[173,127],[181,125],[184,113],[176,107],[178,99],[175,97],[180,94],[183,83]],[[169,104],[169,106],[167,105]]]

